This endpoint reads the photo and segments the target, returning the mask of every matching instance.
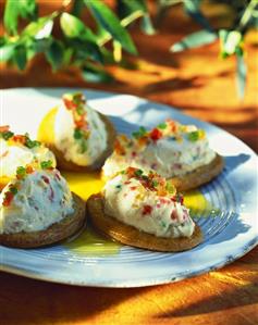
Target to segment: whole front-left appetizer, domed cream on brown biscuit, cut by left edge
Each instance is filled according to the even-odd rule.
[[[78,232],[85,217],[85,202],[70,191],[51,161],[19,166],[0,195],[0,245],[50,245]]]

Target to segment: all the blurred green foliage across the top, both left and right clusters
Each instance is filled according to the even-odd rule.
[[[214,28],[202,11],[204,2],[226,5],[234,17],[232,26]],[[144,33],[156,33],[147,3],[147,0],[115,0],[115,8],[111,10],[102,0],[64,0],[59,10],[39,17],[36,0],[7,0],[3,17],[5,35],[0,38],[0,60],[24,70],[30,59],[44,53],[53,71],[76,66],[89,82],[110,82],[112,77],[105,66],[123,64],[123,51],[137,54],[126,27],[139,21]],[[171,52],[220,39],[221,57],[236,57],[236,82],[238,93],[243,97],[247,73],[243,57],[244,37],[249,28],[258,27],[258,0],[156,0],[153,3],[157,29],[174,5],[181,5],[201,27],[172,45]],[[84,11],[91,15],[94,28],[82,20]],[[23,28],[19,28],[21,21],[27,23]],[[61,33],[54,33],[57,26]]]

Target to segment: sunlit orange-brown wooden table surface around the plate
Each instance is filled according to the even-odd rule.
[[[58,1],[53,2],[42,1],[41,10],[50,12]],[[210,10],[212,21],[219,12],[217,7]],[[139,71],[109,67],[119,80],[115,84],[90,85],[75,71],[52,74],[38,58],[25,73],[2,66],[0,86],[70,86],[137,95],[214,123],[258,151],[258,35],[250,33],[247,37],[249,73],[245,98],[239,101],[234,84],[235,61],[218,59],[218,43],[169,53],[172,42],[197,28],[176,9],[165,18],[159,35],[148,37],[135,32]],[[0,288],[3,325],[258,324],[258,248],[219,271],[163,286],[73,287],[1,273]]]

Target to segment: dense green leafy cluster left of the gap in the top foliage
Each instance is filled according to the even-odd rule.
[[[76,66],[89,82],[110,82],[105,65],[122,63],[122,50],[137,54],[126,27],[142,20],[143,30],[153,33],[145,0],[116,0],[116,9],[119,15],[103,1],[65,0],[59,10],[39,17],[35,0],[7,0],[0,60],[24,70],[29,60],[44,53],[53,71]],[[82,20],[86,10],[94,28]],[[23,28],[21,21],[27,23]]]

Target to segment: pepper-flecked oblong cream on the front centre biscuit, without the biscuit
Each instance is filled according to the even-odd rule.
[[[182,200],[146,187],[142,176],[116,175],[106,184],[103,196],[107,215],[142,232],[165,238],[191,237],[194,233],[195,224]]]

